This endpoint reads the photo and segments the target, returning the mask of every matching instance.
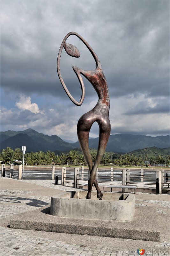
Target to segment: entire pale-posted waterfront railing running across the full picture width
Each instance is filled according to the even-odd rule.
[[[62,167],[60,170],[55,170],[55,166],[50,168],[30,168],[24,170],[24,179],[55,179],[58,175],[58,180],[61,180],[61,185],[68,185],[77,188],[78,185],[88,187],[90,173],[88,168],[68,168]],[[57,167],[56,169],[58,169]],[[14,166],[13,164],[2,164],[1,176],[7,178],[22,179],[22,165]],[[96,179],[99,186],[107,186],[107,184],[122,184],[122,185],[154,185],[156,179],[159,178],[160,188],[167,188],[166,182],[170,181],[170,170],[155,170],[144,168],[98,168]]]

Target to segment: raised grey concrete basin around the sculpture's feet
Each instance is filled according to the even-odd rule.
[[[51,215],[57,217],[92,220],[132,220],[135,212],[135,195],[105,192],[102,200],[97,192],[85,199],[86,191],[67,191],[51,196]]]

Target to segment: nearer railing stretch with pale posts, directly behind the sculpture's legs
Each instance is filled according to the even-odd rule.
[[[89,170],[87,168],[62,168],[62,185],[73,186],[77,188],[78,185],[88,187]],[[71,173],[71,176],[70,176]],[[169,172],[170,173],[170,172]],[[163,170],[148,170],[148,169],[113,169],[112,168],[98,168],[96,172],[96,179],[98,185],[101,187],[108,186],[107,184],[122,184],[122,185],[154,185],[156,188],[156,179],[159,179],[159,190],[163,187]],[[168,176],[169,177],[169,176]],[[70,180],[69,180],[70,179]],[[71,181],[72,179],[72,181]],[[169,178],[168,178],[169,179]],[[70,183],[70,184],[69,184]],[[157,184],[158,185],[158,184]],[[142,186],[141,186],[142,188]]]

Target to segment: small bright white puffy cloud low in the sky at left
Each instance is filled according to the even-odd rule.
[[[37,114],[41,113],[43,114],[38,105],[36,103],[31,103],[31,98],[26,97],[25,95],[20,95],[20,100],[15,103],[15,106],[18,107],[20,110],[30,110],[32,113]]]

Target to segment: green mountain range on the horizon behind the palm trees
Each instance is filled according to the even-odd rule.
[[[0,132],[0,149],[11,147],[12,149],[26,146],[27,152],[37,151],[56,151],[64,152],[74,148],[80,148],[79,142],[68,143],[56,135],[45,135],[36,132],[33,129],[25,131],[6,131]],[[144,148],[169,148],[170,136],[146,136],[132,134],[114,134],[110,135],[106,151],[115,153],[127,153],[137,149]],[[98,148],[99,138],[89,139],[90,148]]]

